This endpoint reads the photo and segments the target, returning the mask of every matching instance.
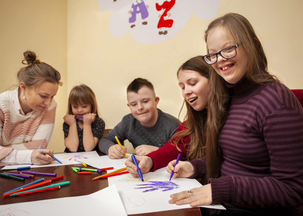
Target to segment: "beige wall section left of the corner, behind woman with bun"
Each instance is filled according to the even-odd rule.
[[[62,77],[55,100],[55,127],[48,148],[63,151],[62,115],[67,95],[67,1],[0,1],[0,92],[17,84],[16,73],[23,52],[35,51],[41,61],[52,65]],[[14,88],[11,88],[14,89]]]

